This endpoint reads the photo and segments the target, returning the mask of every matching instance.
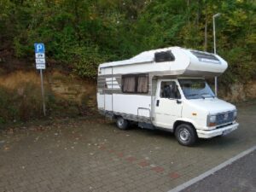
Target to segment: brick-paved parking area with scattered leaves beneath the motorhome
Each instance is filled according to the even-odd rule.
[[[10,127],[0,134],[0,191],[168,191],[256,145],[256,104],[238,113],[238,130],[193,148],[104,119]]]

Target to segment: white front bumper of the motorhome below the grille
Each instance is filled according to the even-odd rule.
[[[209,131],[196,130],[196,132],[199,138],[211,138],[211,137],[220,136],[226,133],[230,133],[231,131],[236,130],[238,125],[239,125],[238,123],[235,123],[232,125],[224,126],[223,128],[215,129],[215,130],[209,130]]]

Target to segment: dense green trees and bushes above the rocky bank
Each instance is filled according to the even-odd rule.
[[[33,58],[43,42],[49,62],[91,79],[99,63],[147,49],[212,52],[212,15],[221,13],[217,50],[230,63],[222,81],[256,74],[253,0],[0,0],[0,9],[0,51],[10,44],[16,57]]]

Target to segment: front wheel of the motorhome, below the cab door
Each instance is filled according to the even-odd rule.
[[[175,130],[175,137],[178,143],[184,146],[192,146],[197,140],[195,128],[189,124],[178,125]]]

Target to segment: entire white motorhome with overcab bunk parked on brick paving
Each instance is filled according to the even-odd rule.
[[[183,145],[226,135],[238,127],[236,107],[218,99],[205,78],[227,67],[219,55],[180,47],[103,63],[98,67],[98,109],[116,119],[119,129],[137,122],[142,128],[172,131]]]

